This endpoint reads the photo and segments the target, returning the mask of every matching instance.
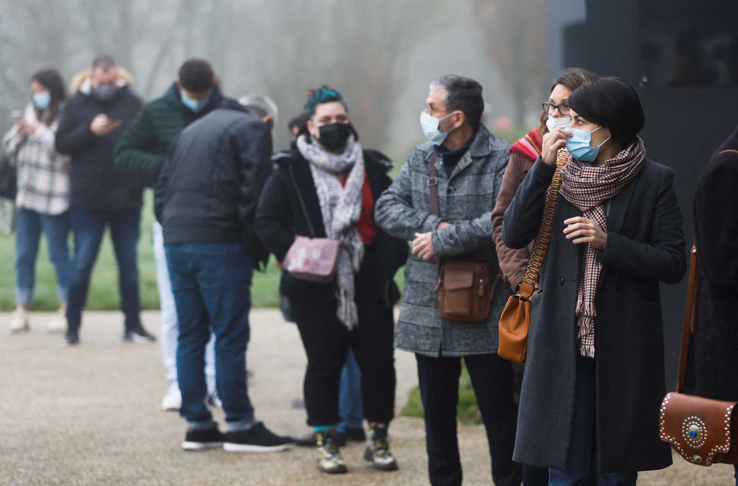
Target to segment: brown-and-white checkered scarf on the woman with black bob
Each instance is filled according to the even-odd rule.
[[[646,159],[644,141],[638,140],[623,149],[615,158],[596,165],[569,157],[561,171],[560,194],[607,233],[604,204],[615,197],[633,177],[638,175]],[[598,250],[587,243],[579,267],[579,288],[576,295],[576,342],[582,356],[595,356],[595,297],[602,271]]]

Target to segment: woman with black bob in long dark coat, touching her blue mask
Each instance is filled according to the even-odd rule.
[[[513,459],[549,468],[553,486],[580,484],[590,470],[599,485],[635,485],[637,471],[672,463],[657,434],[666,392],[659,282],[686,272],[682,214],[672,170],[645,158],[644,113],[627,82],[588,82],[569,105],[570,127],[545,135],[503,222],[508,247],[534,239],[566,147]]]

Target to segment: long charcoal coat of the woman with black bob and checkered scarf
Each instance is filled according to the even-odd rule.
[[[541,224],[555,168],[540,159],[528,171],[503,221],[503,241],[522,248]],[[600,473],[649,471],[672,463],[658,438],[666,394],[659,282],[686,272],[682,214],[671,169],[646,160],[613,198],[595,307],[596,460]],[[551,243],[532,300],[513,459],[545,468],[568,465],[576,387],[576,307],[582,244],[565,238],[564,221],[582,216],[559,197]]]

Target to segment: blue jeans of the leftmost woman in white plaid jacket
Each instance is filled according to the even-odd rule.
[[[41,214],[21,209],[15,216],[15,301],[24,306],[33,303],[36,256],[41,230],[49,242],[49,260],[56,272],[56,295],[66,302],[72,264],[69,262],[69,213]]]

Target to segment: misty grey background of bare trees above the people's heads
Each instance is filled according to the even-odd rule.
[[[160,96],[187,57],[203,57],[224,94],[279,107],[275,150],[308,88],[345,95],[366,148],[397,165],[423,141],[418,116],[443,74],[479,81],[498,135],[537,124],[549,82],[543,0],[0,0],[0,131],[30,100],[29,78],[58,68],[69,85],[97,54]]]

